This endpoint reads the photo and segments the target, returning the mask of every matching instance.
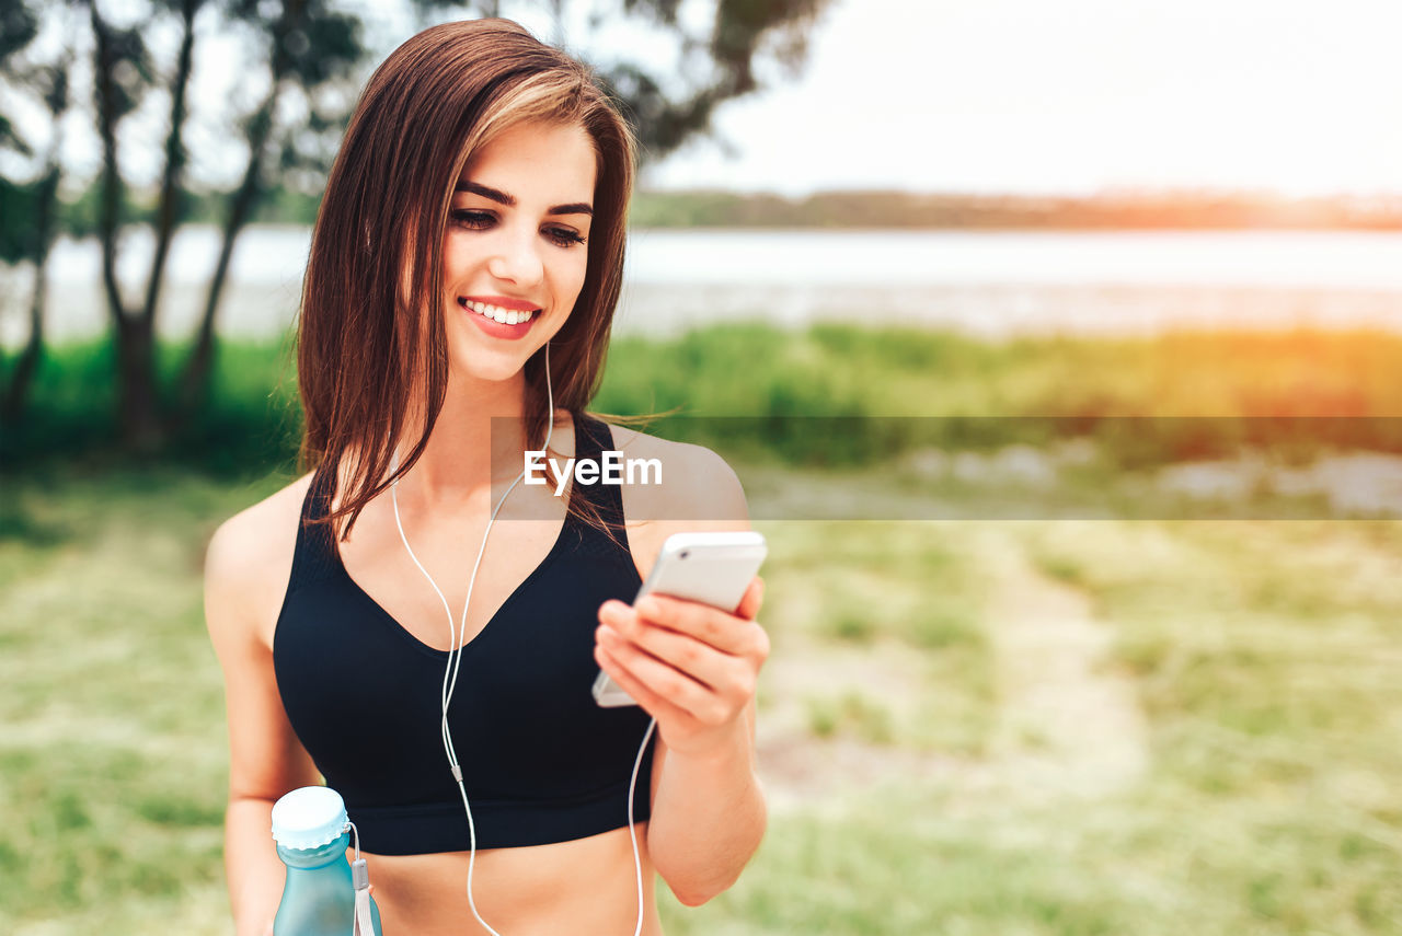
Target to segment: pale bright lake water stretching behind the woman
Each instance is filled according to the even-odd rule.
[[[226,335],[273,335],[296,312],[311,231],[255,226],[234,251]],[[172,244],[161,331],[188,333],[219,241],[210,226]],[[139,294],[151,238],[123,245],[119,279]],[[25,329],[28,276],[0,289],[0,342]],[[49,333],[105,326],[97,241],[60,240]],[[1402,331],[1402,233],[1359,231],[674,231],[629,240],[615,331],[667,335],[763,318],[948,326],[980,335],[1154,333],[1179,325],[1375,325]]]

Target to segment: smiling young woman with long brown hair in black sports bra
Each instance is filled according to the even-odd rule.
[[[273,801],[322,776],[388,936],[659,933],[653,874],[697,905],[757,848],[761,581],[735,614],[628,604],[669,534],[747,528],[739,482],[585,413],[632,175],[590,73],[513,22],[433,27],[370,78],[304,280],[314,471],[206,560],[240,936],[280,898]],[[547,444],[665,483],[508,492]],[[600,667],[641,708],[596,706]]]

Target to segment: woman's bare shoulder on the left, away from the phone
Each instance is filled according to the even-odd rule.
[[[292,572],[311,474],[224,520],[205,552],[206,617],[271,628]],[[212,611],[216,611],[212,614]],[[269,629],[271,633],[271,629]]]

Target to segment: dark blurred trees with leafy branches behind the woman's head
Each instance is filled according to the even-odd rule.
[[[465,10],[439,0],[409,0],[419,27],[451,15],[512,15],[540,13],[543,4],[558,22],[583,15],[590,34],[618,21],[646,22],[660,41],[670,41],[691,69],[683,78],[659,71],[645,57],[615,49],[596,60],[596,69],[642,142],[644,158],[659,158],[693,136],[707,133],[716,106],[756,91],[758,62],[777,59],[789,69],[802,62],[815,18],[830,0],[715,0],[705,28],[683,22],[680,0],[534,0],[477,3]],[[146,0],[144,15],[118,22],[98,0],[0,0],[0,83],[10,91],[48,105],[49,160],[35,171],[38,144],[18,129],[15,113],[0,102],[0,151],[10,154],[0,171],[0,261],[29,262],[39,270],[27,352],[36,357],[42,345],[43,268],[57,220],[74,234],[93,233],[102,252],[102,290],[115,346],[118,420],[128,448],[156,451],[193,422],[209,392],[216,352],[220,297],[240,233],[258,207],[287,184],[308,195],[320,192],[339,136],[353,106],[369,59],[377,55],[366,39],[360,14],[332,0]],[[57,20],[80,24],[62,42],[63,52],[39,60],[36,38]],[[203,24],[196,28],[196,24]],[[153,27],[160,25],[161,29]],[[62,28],[62,27],[59,27]],[[165,262],[175,231],[198,209],[207,210],[210,195],[196,192],[186,142],[192,102],[191,76],[200,36],[210,29],[237,31],[264,71],[266,92],[227,128],[230,144],[245,151],[240,181],[222,193],[222,247],[206,289],[199,326],[188,359],[174,383],[163,384],[156,366],[156,321],[165,282]],[[174,60],[151,46],[153,35],[178,35]],[[407,38],[407,36],[405,36]],[[551,36],[545,36],[551,38]],[[573,50],[573,36],[554,36]],[[578,43],[576,43],[578,45]],[[91,87],[69,88],[74,56],[91,62]],[[590,57],[585,53],[585,57]],[[70,101],[72,98],[72,101]],[[102,154],[97,179],[70,178],[69,188],[87,195],[60,210],[62,172],[59,121],[70,102],[90,108],[91,129]],[[167,111],[164,144],[158,153],[154,193],[137,191],[123,167],[132,147],[123,132],[130,118],[151,104]],[[290,106],[289,106],[290,105]],[[287,112],[297,113],[289,121]],[[21,172],[10,167],[25,165]],[[25,172],[28,175],[25,175]],[[278,181],[278,184],[273,182]],[[116,277],[123,234],[147,227],[154,254],[137,296]],[[32,370],[32,362],[28,364]],[[15,366],[14,374],[21,369]],[[14,381],[11,380],[11,391]],[[10,406],[13,422],[22,412]],[[14,392],[10,394],[15,397]]]

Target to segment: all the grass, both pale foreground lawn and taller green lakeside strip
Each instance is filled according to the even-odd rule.
[[[199,577],[215,525],[290,479],[262,476],[296,429],[280,353],[226,345],[184,467],[158,469],[108,447],[104,346],[41,371],[7,443],[20,468],[0,478],[0,929],[229,930]],[[760,719],[796,754],[775,754],[768,837],[736,887],[700,909],[659,887],[669,936],[1402,935],[1402,523],[988,518],[1085,516],[1095,497],[1207,516],[1126,467],[1253,433],[1297,454],[1357,444],[1357,425],[1281,419],[1402,413],[1399,371],[1402,339],[1370,332],[990,343],[730,325],[615,342],[596,409],[728,420],[658,432],[744,455],[757,516],[972,517],[757,523],[774,645]],[[806,419],[834,415],[949,419]],[[1108,419],[1126,415],[1232,419]],[[1092,458],[1044,488],[917,464],[1067,434],[1095,439]],[[1030,729],[1009,757],[991,548],[1112,632],[1101,666],[1147,724],[1138,779],[1049,799],[1018,757],[1057,748]]]

